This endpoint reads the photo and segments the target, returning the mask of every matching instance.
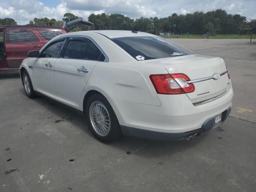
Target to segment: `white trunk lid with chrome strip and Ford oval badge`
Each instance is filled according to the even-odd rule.
[[[183,73],[190,80],[201,80],[193,82],[195,90],[187,94],[195,106],[223,96],[231,86],[226,64],[222,58],[193,54],[159,59],[154,63],[166,68],[169,74]],[[215,76],[218,79],[214,80],[211,78],[214,74],[221,76]],[[203,78],[210,79],[202,81]]]

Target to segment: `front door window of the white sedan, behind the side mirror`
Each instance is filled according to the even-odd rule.
[[[61,48],[63,46],[65,38],[56,40],[50,46],[48,46],[45,50],[43,50],[40,57],[53,57],[58,58],[60,56]]]

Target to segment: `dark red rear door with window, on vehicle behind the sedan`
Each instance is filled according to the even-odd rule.
[[[9,68],[19,68],[29,51],[40,50],[42,46],[42,38],[32,29],[7,29],[5,62]]]

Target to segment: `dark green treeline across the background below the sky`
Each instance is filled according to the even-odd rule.
[[[34,18],[30,25],[63,26],[63,22],[69,22],[78,19],[72,13],[66,13],[62,20],[57,21],[52,18]],[[2,22],[2,20],[5,20]],[[10,18],[2,19],[2,25],[6,23],[16,24]],[[78,26],[72,31],[81,30],[137,30],[159,35],[160,32],[174,34],[205,34],[207,32],[214,34],[238,34],[240,28],[250,26],[246,22],[246,17],[239,14],[227,14],[225,10],[216,9],[209,12],[194,12],[184,14],[173,13],[165,18],[137,18],[131,19],[122,14],[90,14],[88,21],[94,23],[93,26]]]

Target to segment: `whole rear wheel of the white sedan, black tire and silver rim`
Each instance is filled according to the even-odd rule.
[[[88,99],[86,118],[90,130],[101,142],[113,142],[122,135],[114,110],[101,94],[93,94]]]

